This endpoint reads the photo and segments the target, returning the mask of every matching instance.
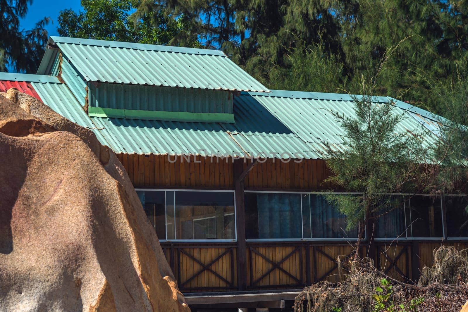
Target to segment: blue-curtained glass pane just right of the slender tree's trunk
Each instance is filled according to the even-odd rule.
[[[406,238],[404,196],[391,195],[382,201],[377,219],[376,238]],[[370,236],[370,233],[367,233]]]

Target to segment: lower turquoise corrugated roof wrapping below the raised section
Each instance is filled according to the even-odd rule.
[[[235,97],[234,124],[90,118],[65,84],[32,82],[31,86],[51,109],[90,128],[115,152],[128,154],[316,159],[323,151],[318,138],[342,148],[339,135],[343,131],[327,109],[354,114],[352,97],[346,94],[273,91]],[[377,102],[388,100],[381,97]],[[428,130],[424,143],[436,142],[438,116],[409,109],[407,103],[395,105],[408,116],[398,125],[399,130]]]

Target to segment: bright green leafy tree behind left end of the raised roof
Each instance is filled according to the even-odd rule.
[[[168,44],[177,33],[186,31],[180,20],[164,12],[152,11],[131,18],[132,0],[82,0],[83,11],[60,12],[58,32],[70,36],[100,40]],[[197,46],[197,42],[187,46]]]

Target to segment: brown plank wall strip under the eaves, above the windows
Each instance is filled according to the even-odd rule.
[[[232,159],[191,156],[117,154],[135,187],[234,189]],[[171,160],[171,161],[169,161]],[[244,169],[251,160],[244,162]],[[330,187],[324,160],[257,162],[244,180],[245,189],[322,190]]]

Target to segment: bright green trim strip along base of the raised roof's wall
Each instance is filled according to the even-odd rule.
[[[142,120],[183,121],[198,123],[234,123],[234,114],[225,113],[189,113],[160,110],[109,109],[88,107],[90,117],[108,117]]]

